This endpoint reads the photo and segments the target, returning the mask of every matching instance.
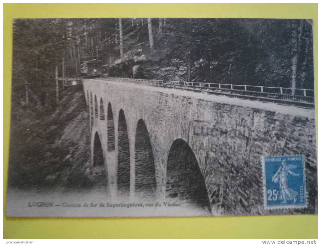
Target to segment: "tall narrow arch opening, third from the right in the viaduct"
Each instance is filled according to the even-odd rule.
[[[118,194],[129,195],[130,189],[130,155],[127,123],[124,111],[119,110],[118,116],[118,167],[117,189]]]

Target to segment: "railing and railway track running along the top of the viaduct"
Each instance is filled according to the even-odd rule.
[[[208,92],[213,94],[230,94],[247,98],[262,98],[270,101],[287,101],[307,105],[314,105],[314,90],[301,88],[283,88],[253,85],[221,84],[221,83],[195,83],[167,80],[148,80],[134,78],[106,78],[113,81],[130,81],[153,86],[165,86],[186,90]]]

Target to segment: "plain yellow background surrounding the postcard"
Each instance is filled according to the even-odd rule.
[[[314,20],[317,4],[4,4],[4,206],[7,186],[13,18],[209,17]],[[317,108],[317,104],[316,104]],[[184,218],[7,218],[4,238],[317,238],[317,215]]]

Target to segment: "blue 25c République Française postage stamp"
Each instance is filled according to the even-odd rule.
[[[262,157],[266,209],[306,208],[304,155]]]

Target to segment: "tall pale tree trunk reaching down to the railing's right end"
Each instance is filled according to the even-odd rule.
[[[300,53],[300,46],[301,46],[301,38],[302,38],[302,29],[303,29],[303,20],[300,22],[299,27],[299,36],[298,36],[298,30],[297,25],[294,24],[294,31],[293,31],[293,38],[294,41],[294,48],[293,53],[294,57],[292,59],[292,82],[291,82],[291,88],[292,88],[292,95],[295,94],[295,89],[297,88],[297,72],[298,72],[298,61],[299,61],[299,53]]]

